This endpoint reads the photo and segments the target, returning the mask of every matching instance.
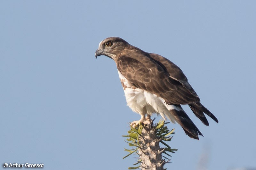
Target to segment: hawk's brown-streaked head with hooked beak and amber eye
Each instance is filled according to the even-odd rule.
[[[108,37],[101,41],[95,52],[95,57],[106,55],[116,61],[118,55],[130,44],[119,37]]]

